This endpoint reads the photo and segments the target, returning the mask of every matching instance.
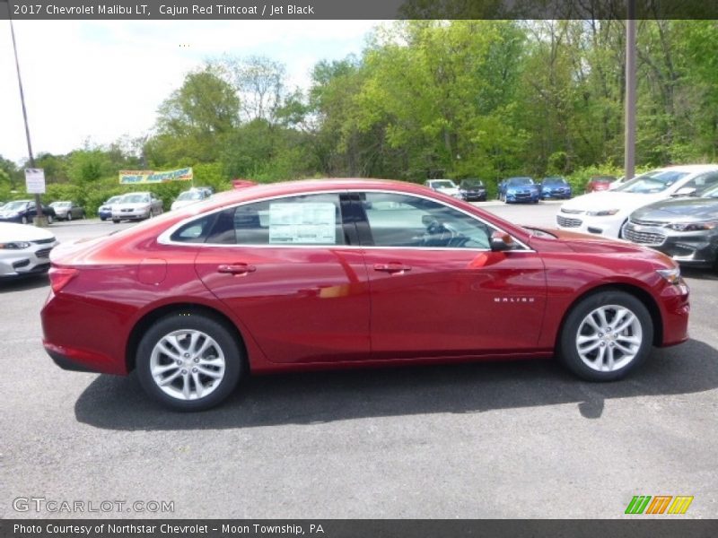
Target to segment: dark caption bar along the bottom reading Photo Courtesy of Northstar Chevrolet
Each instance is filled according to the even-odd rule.
[[[53,519],[0,521],[0,538],[681,538],[718,535],[717,520],[633,516],[613,520]]]

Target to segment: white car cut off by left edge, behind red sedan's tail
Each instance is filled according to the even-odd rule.
[[[0,278],[47,272],[56,245],[48,230],[0,222]]]

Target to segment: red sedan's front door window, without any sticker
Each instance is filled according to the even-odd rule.
[[[362,198],[376,247],[487,249],[495,231],[466,213],[417,196],[365,193]]]

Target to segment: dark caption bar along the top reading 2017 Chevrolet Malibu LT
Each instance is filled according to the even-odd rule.
[[[626,19],[632,0],[0,0],[17,20]],[[718,19],[714,0],[633,0],[636,19]]]

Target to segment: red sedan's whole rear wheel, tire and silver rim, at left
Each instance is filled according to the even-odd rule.
[[[176,411],[203,411],[232,393],[243,356],[228,328],[191,312],[163,317],[144,334],[136,368],[148,395]]]

